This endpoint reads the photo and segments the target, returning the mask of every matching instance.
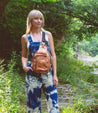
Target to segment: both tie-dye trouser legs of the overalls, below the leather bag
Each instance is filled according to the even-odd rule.
[[[36,77],[33,76],[33,72],[31,70],[29,70],[26,75],[28,113],[41,113],[42,89],[47,99],[49,113],[59,113],[57,89],[53,85],[53,77],[51,71]]]

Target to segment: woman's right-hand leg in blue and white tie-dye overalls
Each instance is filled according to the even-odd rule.
[[[43,91],[47,98],[49,113],[59,113],[57,89],[53,85],[52,72],[42,75]]]

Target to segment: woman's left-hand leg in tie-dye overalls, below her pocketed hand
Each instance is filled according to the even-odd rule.
[[[26,75],[26,96],[28,113],[41,113],[41,86],[36,76]]]

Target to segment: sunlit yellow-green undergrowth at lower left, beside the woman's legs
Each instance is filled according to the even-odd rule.
[[[0,113],[26,113],[24,81],[13,72],[14,65],[11,61],[5,71],[3,62],[0,64]]]

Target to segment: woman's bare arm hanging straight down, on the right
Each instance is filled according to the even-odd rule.
[[[58,78],[57,78],[57,72],[56,72],[56,70],[57,70],[56,69],[57,68],[56,54],[55,54],[55,50],[54,50],[53,37],[52,37],[52,34],[50,32],[48,32],[48,37],[49,37],[49,45],[50,45],[50,49],[51,49],[51,54],[52,54],[53,83],[57,87],[57,85],[58,85]]]

